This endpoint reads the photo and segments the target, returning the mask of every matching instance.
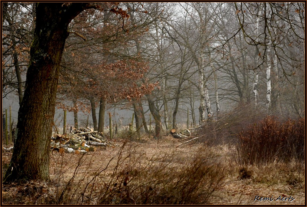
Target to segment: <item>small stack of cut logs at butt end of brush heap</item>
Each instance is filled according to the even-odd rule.
[[[170,133],[174,138],[178,138],[178,142],[181,142],[176,146],[177,147],[183,147],[185,145],[191,144],[192,142],[196,141],[199,137],[198,130],[201,127],[191,128],[191,129],[185,129],[181,132],[176,132],[176,129],[171,129]],[[191,133],[192,130],[195,130],[193,134]]]

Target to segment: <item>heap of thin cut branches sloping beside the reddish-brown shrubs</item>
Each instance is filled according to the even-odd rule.
[[[262,120],[268,113],[261,109],[256,109],[253,103],[241,104],[231,112],[224,113],[212,120],[203,121],[203,125],[192,128],[192,134],[186,139],[178,140],[182,142],[176,147],[184,147],[188,144],[205,143],[214,146],[223,143],[235,144],[235,137],[249,124]]]

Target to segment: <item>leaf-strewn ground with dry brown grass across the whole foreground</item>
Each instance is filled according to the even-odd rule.
[[[50,181],[3,186],[3,204],[296,204],[305,203],[304,163],[275,159],[241,165],[234,144],[175,148],[160,140],[113,140],[121,147],[85,155],[51,154]],[[3,153],[2,166],[11,153]],[[249,176],[242,176],[245,169]],[[241,174],[240,174],[241,170]],[[256,202],[255,195],[293,196],[292,203]]]

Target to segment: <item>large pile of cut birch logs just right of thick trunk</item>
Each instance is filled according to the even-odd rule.
[[[119,146],[107,140],[102,132],[94,131],[91,128],[79,128],[69,134],[57,134],[51,137],[51,150],[60,153],[84,154],[88,151],[96,151],[97,146]]]

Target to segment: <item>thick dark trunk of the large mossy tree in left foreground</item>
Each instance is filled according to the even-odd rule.
[[[36,28],[24,97],[4,182],[49,178],[50,137],[60,61],[68,37],[68,24],[84,9],[82,3],[62,5],[36,3]]]

